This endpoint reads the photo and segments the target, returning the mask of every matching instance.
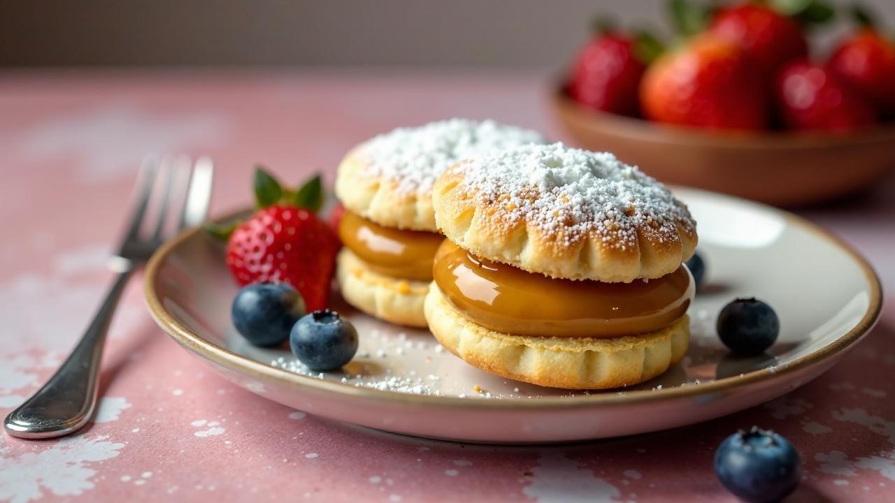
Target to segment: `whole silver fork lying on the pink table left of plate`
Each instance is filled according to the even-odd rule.
[[[199,158],[192,168],[186,158],[164,158],[161,162],[147,159],[143,163],[135,187],[137,203],[130,225],[118,252],[109,262],[109,269],[118,275],[115,283],[81,341],[59,370],[43,388],[6,416],[4,428],[10,435],[21,439],[62,437],[80,430],[90,421],[97,404],[103,345],[124,286],[164,241],[166,222],[175,215],[178,207],[183,208],[175,224],[178,230],[198,226],[205,219],[211,199],[213,171],[209,158]],[[165,175],[159,177],[159,172]],[[188,180],[188,183],[185,191],[173,195],[178,185],[183,189],[178,178]],[[152,212],[148,208],[153,199],[158,200],[155,220],[147,217]]]

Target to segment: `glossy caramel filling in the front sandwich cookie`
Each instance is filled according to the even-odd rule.
[[[556,279],[482,260],[445,241],[435,283],[465,318],[505,334],[618,337],[668,327],[695,294],[683,266],[649,281],[601,283]]]

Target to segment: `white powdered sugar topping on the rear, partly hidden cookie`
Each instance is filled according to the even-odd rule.
[[[450,119],[419,127],[401,127],[364,143],[366,175],[397,183],[402,193],[429,193],[448,166],[495,149],[543,143],[541,134],[494,121]]]

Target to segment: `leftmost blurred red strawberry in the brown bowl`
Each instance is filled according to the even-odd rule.
[[[634,38],[613,32],[598,34],[575,59],[569,93],[596,110],[639,115],[637,89],[648,58],[638,50]]]

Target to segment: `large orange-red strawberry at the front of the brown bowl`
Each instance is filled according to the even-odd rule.
[[[759,72],[736,43],[712,35],[662,55],[640,87],[644,115],[669,124],[763,129],[768,98]]]

